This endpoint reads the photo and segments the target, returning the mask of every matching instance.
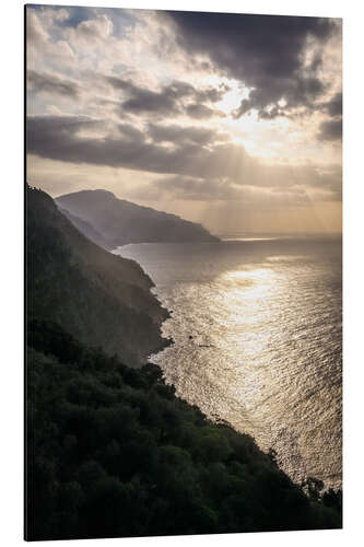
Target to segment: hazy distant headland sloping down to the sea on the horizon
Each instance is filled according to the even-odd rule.
[[[55,201],[72,216],[92,224],[105,238],[107,248],[126,243],[219,241],[201,224],[118,199],[106,190],[77,191],[59,196]]]

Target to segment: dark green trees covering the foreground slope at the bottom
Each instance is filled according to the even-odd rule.
[[[213,424],[152,364],[28,325],[28,539],[340,527],[254,440]]]

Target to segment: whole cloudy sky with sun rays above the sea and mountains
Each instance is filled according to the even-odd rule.
[[[26,38],[32,186],[341,231],[341,20],[30,5]]]

